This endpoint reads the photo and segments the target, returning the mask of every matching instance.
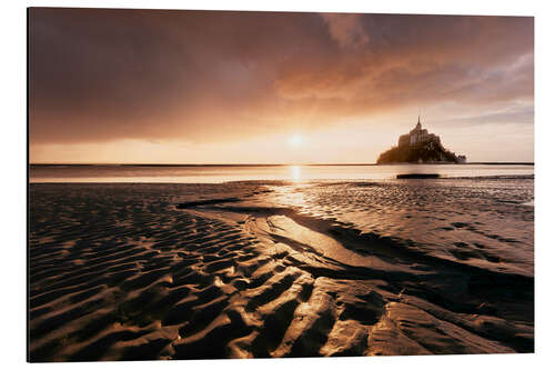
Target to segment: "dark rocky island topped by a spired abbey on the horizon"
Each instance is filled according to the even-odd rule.
[[[411,132],[398,138],[397,147],[384,151],[377,164],[386,163],[465,163],[465,156],[445,149],[438,136],[427,132],[420,121]]]

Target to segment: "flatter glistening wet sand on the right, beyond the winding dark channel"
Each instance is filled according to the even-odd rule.
[[[276,204],[500,272],[534,276],[533,177],[273,187]]]

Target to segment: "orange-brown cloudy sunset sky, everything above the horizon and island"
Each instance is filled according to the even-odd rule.
[[[534,19],[29,11],[31,163],[534,161]]]

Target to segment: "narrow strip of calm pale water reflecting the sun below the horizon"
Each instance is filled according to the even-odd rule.
[[[446,178],[531,176],[525,164],[394,166],[31,166],[31,182],[220,183],[248,180],[385,180],[400,173],[440,173]]]

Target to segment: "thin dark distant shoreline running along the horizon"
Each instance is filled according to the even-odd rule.
[[[455,164],[455,163],[389,163],[389,164],[377,164],[377,163],[306,163],[306,164],[276,164],[276,163],[238,163],[238,164],[199,164],[199,163],[29,163],[31,167],[287,167],[287,166],[306,166],[306,167],[323,167],[323,166],[398,166],[398,164]],[[468,164],[490,164],[490,166],[535,166],[534,162],[468,162],[457,166],[468,166]]]

